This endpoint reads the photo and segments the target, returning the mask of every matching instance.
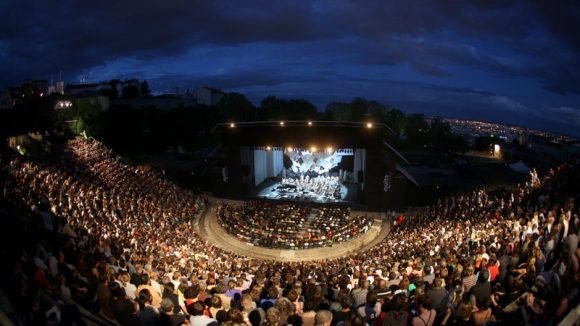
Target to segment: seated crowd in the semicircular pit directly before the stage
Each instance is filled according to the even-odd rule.
[[[220,225],[246,243],[284,249],[331,246],[369,230],[373,219],[351,214],[350,207],[311,208],[250,201],[216,208]]]

